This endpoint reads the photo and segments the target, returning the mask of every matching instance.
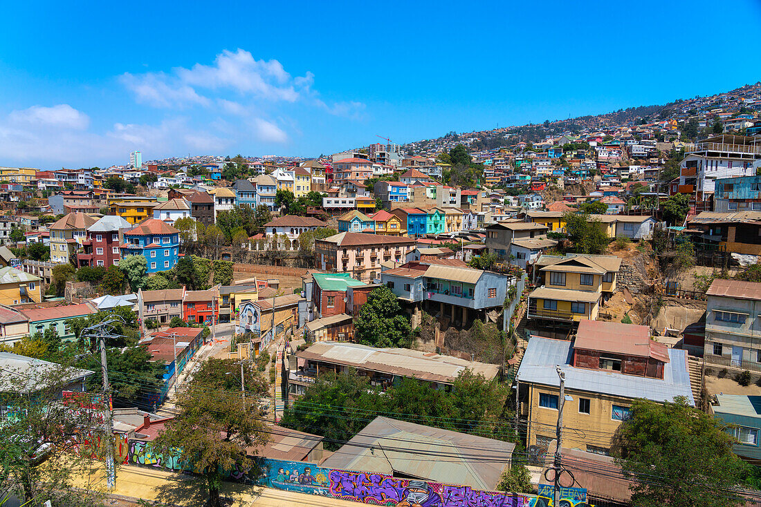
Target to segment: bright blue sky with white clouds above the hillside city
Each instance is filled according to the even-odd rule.
[[[316,156],[761,79],[758,0],[14,2],[4,14],[0,165],[106,166],[135,149]]]

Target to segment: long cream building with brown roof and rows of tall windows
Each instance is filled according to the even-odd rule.
[[[380,262],[402,262],[413,249],[415,240],[412,238],[368,233],[338,233],[314,242],[320,271],[349,273],[363,282],[380,277]]]

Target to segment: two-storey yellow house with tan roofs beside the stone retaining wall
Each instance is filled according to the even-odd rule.
[[[542,255],[529,294],[528,318],[555,322],[596,320],[603,298],[616,290],[621,259],[613,255]]]

